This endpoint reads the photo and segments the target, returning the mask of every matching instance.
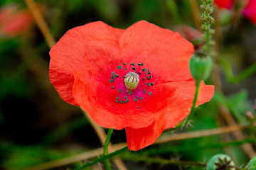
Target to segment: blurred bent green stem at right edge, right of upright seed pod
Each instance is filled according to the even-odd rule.
[[[247,69],[242,71],[240,74],[238,74],[236,77],[234,77],[230,64],[228,64],[227,61],[220,59],[219,63],[223,67],[225,76],[227,77],[228,81],[232,84],[238,83],[243,79],[250,77],[250,75],[256,72],[256,62],[255,62],[250,67],[248,67]]]

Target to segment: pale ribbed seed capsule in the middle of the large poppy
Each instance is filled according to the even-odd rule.
[[[139,84],[139,74],[135,72],[128,72],[124,79],[124,84],[129,90],[134,90]]]

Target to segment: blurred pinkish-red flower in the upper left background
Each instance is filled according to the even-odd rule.
[[[3,35],[16,36],[31,28],[33,18],[28,10],[17,10],[16,6],[4,6],[0,9],[0,32]]]

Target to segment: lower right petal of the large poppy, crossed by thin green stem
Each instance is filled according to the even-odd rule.
[[[195,93],[193,80],[160,84],[156,88],[173,90],[165,91],[166,94],[162,94],[163,92],[159,91],[159,94],[157,94],[166,97],[163,99],[166,105],[161,111],[154,114],[154,123],[146,128],[126,128],[127,143],[131,150],[136,151],[154,143],[164,129],[174,128],[181,120],[186,118],[191,109]],[[197,106],[210,101],[213,94],[214,86],[202,83]]]

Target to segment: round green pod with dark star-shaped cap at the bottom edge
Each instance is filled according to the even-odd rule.
[[[206,170],[217,169],[235,170],[235,163],[226,154],[216,154],[209,160]]]

